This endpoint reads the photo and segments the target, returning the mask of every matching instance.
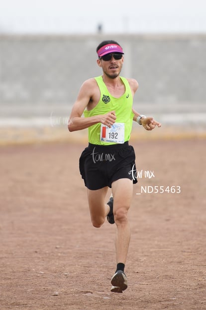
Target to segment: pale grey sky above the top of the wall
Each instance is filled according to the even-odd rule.
[[[205,32],[204,0],[0,0],[0,32]]]

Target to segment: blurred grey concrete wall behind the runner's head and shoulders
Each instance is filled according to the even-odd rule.
[[[104,39],[123,47],[121,74],[139,82],[135,104],[205,107],[206,35],[1,35],[1,114],[71,107],[82,82],[102,74],[96,47]]]

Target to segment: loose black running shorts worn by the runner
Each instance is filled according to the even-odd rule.
[[[80,174],[90,190],[111,187],[112,182],[127,178],[137,183],[134,148],[123,144],[89,143],[79,161]]]

